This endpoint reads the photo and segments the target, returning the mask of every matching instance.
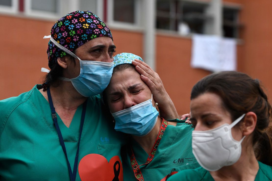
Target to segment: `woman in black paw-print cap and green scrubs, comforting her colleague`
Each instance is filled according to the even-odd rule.
[[[0,101],[0,180],[122,180],[126,140],[98,95],[113,71],[109,28],[92,12],[75,11],[56,21],[45,38],[51,71],[42,69],[48,72],[44,84]],[[176,118],[158,87],[157,101],[168,103],[162,112]]]

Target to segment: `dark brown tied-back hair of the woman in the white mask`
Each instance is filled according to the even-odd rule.
[[[259,80],[235,71],[214,73],[194,85],[191,100],[207,92],[221,97],[233,121],[247,112],[257,115],[253,132],[255,156],[262,163],[272,166],[272,109]]]

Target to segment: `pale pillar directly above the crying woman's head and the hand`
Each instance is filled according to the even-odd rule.
[[[144,0],[144,61],[153,69],[156,68],[156,0]]]

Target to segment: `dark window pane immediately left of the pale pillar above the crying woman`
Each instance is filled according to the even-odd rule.
[[[135,0],[114,0],[113,20],[135,23]]]

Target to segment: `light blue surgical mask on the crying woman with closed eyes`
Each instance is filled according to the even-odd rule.
[[[152,97],[140,104],[112,113],[115,119],[115,130],[135,136],[149,134],[159,115],[152,105]]]

